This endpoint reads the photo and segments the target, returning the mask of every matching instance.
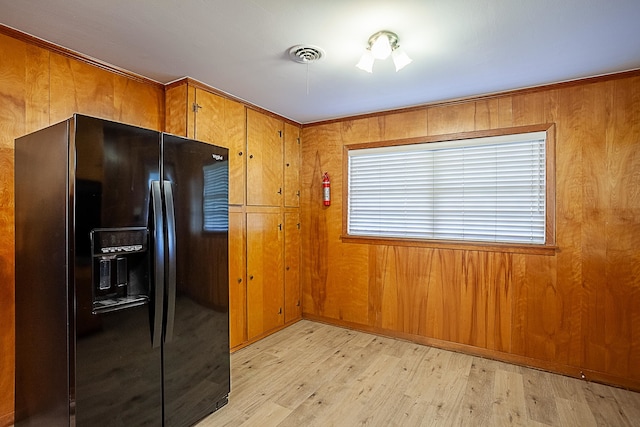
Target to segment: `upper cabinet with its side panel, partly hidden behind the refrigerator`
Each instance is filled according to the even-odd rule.
[[[229,149],[229,204],[243,205],[245,194],[245,107],[187,82],[168,88],[165,129]]]

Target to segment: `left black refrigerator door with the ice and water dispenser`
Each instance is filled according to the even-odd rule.
[[[71,224],[75,225],[76,425],[158,426],[162,360],[160,339],[157,348],[152,345],[153,307],[158,299],[154,273],[149,271],[154,250],[148,240],[153,239],[146,230],[153,230],[148,224],[150,187],[160,175],[159,133],[76,116],[74,138],[76,169],[70,179],[75,185]],[[101,239],[99,249],[91,236]],[[131,240],[132,236],[143,236],[142,241]],[[95,277],[96,257],[110,259],[108,289],[106,279],[101,290]],[[122,258],[127,259],[126,278],[123,271],[118,273]],[[109,307],[109,299],[137,305]],[[102,303],[107,308],[96,309]]]

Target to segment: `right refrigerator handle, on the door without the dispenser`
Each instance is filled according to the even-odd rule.
[[[173,339],[173,325],[176,312],[176,216],[173,203],[171,181],[164,181],[164,203],[167,215],[167,305],[164,341]]]

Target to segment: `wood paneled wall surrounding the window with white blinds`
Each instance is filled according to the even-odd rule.
[[[341,241],[345,145],[545,123],[554,255]],[[305,317],[640,390],[640,72],[309,125],[302,141]]]

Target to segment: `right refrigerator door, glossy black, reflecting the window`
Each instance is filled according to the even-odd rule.
[[[187,426],[224,405],[230,390],[228,151],[164,135],[162,155],[176,233],[175,317],[163,342],[165,425]]]

